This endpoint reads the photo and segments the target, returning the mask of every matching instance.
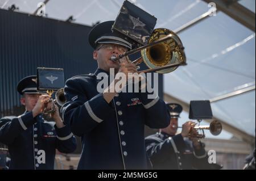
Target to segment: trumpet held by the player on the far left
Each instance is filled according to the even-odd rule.
[[[53,91],[49,92],[47,91],[47,93],[49,95],[52,95]],[[55,108],[55,103],[57,103],[60,107],[63,106],[63,104],[65,104],[66,99],[64,96],[64,88],[61,88],[59,90],[56,91],[55,94],[55,99],[49,99],[49,102],[51,104],[51,108],[49,110],[47,110],[47,108],[44,108],[44,114],[49,114],[49,113],[54,113],[56,111]]]

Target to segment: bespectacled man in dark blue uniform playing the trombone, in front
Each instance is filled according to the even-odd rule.
[[[123,73],[126,78],[129,73],[137,73],[135,65],[125,57],[121,64],[112,61],[113,56],[131,49],[124,35],[112,32],[113,23],[100,23],[89,33],[93,58],[98,64],[96,72],[65,83],[67,103],[61,109],[64,122],[82,137],[78,169],[147,169],[144,125],[164,128],[170,120],[166,104],[158,96],[148,99],[148,92],[111,91],[116,73]],[[111,69],[114,75],[110,74]],[[97,85],[104,77],[110,84],[101,92]]]

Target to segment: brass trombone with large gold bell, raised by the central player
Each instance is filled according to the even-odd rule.
[[[132,63],[136,66],[143,61],[149,69],[139,71],[139,73],[149,73],[156,71],[158,73],[170,73],[178,66],[187,65],[184,53],[184,47],[181,40],[171,30],[158,28],[152,32],[148,44],[129,52],[113,56],[112,61],[119,61],[121,58],[141,52],[141,57]]]

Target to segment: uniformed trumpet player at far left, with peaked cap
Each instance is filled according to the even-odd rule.
[[[37,91],[35,75],[23,78],[17,90],[26,111],[0,120],[0,142],[8,146],[11,156],[9,169],[53,169],[56,149],[71,153],[76,149],[75,137],[61,120],[56,105],[52,113],[55,123],[44,120],[42,113],[51,107],[51,97]]]

